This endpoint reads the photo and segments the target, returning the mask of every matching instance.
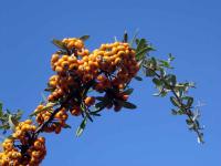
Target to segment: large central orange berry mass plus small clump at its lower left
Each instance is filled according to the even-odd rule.
[[[56,72],[49,80],[51,94],[49,102],[65,101],[71,98],[59,111],[55,123],[44,127],[44,132],[60,133],[65,126],[67,112],[77,116],[83,114],[82,103],[88,108],[96,98],[87,96],[87,90],[92,89],[98,93],[105,93],[110,108],[119,111],[122,105],[117,101],[127,101],[128,95],[124,89],[136,75],[139,65],[135,59],[135,51],[126,42],[114,42],[102,44],[98,49],[90,52],[84,42],[76,38],[62,40],[66,50],[52,54],[51,66]],[[87,89],[87,90],[85,90]],[[44,105],[39,105],[36,111]],[[52,115],[53,110],[44,110],[36,115],[36,122],[41,125]]]

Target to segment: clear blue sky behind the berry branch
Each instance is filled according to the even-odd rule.
[[[155,48],[152,55],[176,56],[179,81],[194,81],[191,92],[206,103],[199,145],[185,117],[172,116],[169,98],[154,97],[149,80],[133,82],[136,111],[105,111],[75,137],[71,129],[48,134],[43,166],[220,166],[221,165],[221,1],[219,0],[0,0],[0,100],[30,114],[42,100],[52,71],[53,38],[91,34],[87,45],[120,39],[124,30]],[[197,103],[196,103],[197,104]]]

